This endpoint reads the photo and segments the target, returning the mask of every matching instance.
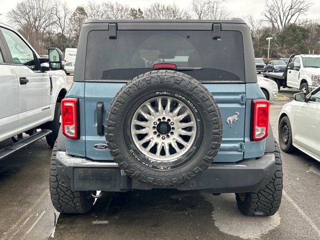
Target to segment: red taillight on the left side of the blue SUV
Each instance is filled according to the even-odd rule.
[[[62,133],[68,138],[79,138],[78,102],[77,98],[61,100]]]

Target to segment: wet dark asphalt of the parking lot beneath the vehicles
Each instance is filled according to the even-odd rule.
[[[280,93],[292,100],[295,91]],[[276,139],[289,100],[270,104]],[[320,239],[320,162],[299,151],[281,152],[282,202],[270,217],[243,216],[231,193],[166,189],[105,193],[86,214],[58,214],[48,190],[50,154],[42,138],[0,161],[0,239]]]

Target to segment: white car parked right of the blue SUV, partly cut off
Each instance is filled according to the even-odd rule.
[[[298,148],[320,161],[320,86],[309,94],[294,94],[294,100],[283,105],[278,134],[284,152]]]

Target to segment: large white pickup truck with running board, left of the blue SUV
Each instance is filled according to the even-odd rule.
[[[0,23],[0,142],[15,142],[0,149],[0,159],[43,136],[53,146],[67,90],[62,61],[59,49],[41,58],[21,34]]]

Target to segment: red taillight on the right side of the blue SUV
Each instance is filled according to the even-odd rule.
[[[252,100],[252,130],[251,140],[262,140],[269,130],[269,101]]]

